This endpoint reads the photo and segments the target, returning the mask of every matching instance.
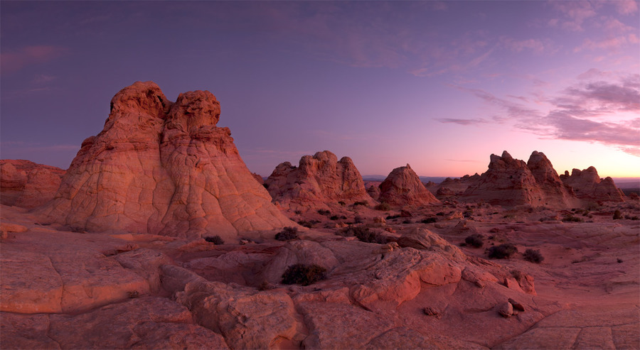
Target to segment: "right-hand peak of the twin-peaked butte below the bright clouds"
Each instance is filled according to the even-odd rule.
[[[545,205],[572,207],[577,204],[575,193],[571,187],[562,183],[544,153],[533,151],[527,162],[527,168],[543,192]]]

